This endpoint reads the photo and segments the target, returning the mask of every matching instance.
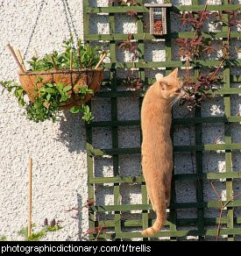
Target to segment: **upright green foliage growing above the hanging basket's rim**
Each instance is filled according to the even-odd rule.
[[[91,47],[89,44],[82,45],[82,40],[78,40],[78,49],[74,47],[74,39],[70,38],[63,42],[64,51],[58,53],[46,54],[43,58],[39,56],[32,57],[32,60],[28,61],[30,65],[29,71],[46,71],[53,70],[53,60],[58,69],[69,69],[71,62],[71,55],[73,54],[72,68],[93,68],[100,60],[99,48]],[[80,67],[81,66],[81,67]]]

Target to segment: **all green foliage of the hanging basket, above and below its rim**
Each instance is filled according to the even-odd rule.
[[[46,54],[43,58],[39,56],[32,57],[28,61],[30,68],[28,72],[39,72],[47,70],[74,70],[74,69],[92,69],[95,68],[101,59],[101,51],[98,47],[89,46],[89,44],[82,44],[82,40],[78,39],[77,47],[74,47],[74,39],[71,37],[63,42],[64,51],[58,53]],[[40,83],[40,84],[39,84]],[[84,103],[84,98],[87,95],[94,95],[94,91],[86,86],[71,86],[68,84],[43,82],[43,78],[39,77],[36,84],[34,84],[34,101],[25,101],[25,90],[17,82],[4,81],[0,85],[9,92],[12,92],[17,97],[18,103],[25,108],[26,116],[36,122],[43,122],[47,119],[55,122],[59,115],[61,108],[68,104],[71,96],[80,99],[79,104],[70,109],[71,113],[82,112],[82,119],[86,122],[93,120],[89,106]]]

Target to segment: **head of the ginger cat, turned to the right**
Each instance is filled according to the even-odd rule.
[[[160,94],[163,98],[172,99],[184,96],[185,93],[182,89],[183,83],[178,78],[178,68],[175,68],[174,71],[167,76],[162,77],[159,75],[156,76],[156,78]]]

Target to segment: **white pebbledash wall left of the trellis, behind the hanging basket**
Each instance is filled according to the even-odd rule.
[[[0,1],[0,80],[18,81],[18,67],[6,45],[11,43],[22,53],[28,46],[40,0]],[[74,27],[83,36],[82,0],[68,1]],[[70,23],[71,19],[69,18]],[[26,60],[33,49],[41,55],[60,50],[69,37],[61,0],[43,5],[32,36]],[[8,93],[0,99],[0,236],[17,239],[27,224],[28,159],[32,156],[32,222],[40,226],[47,217],[62,220],[63,229],[49,233],[46,239],[78,239],[88,227],[86,210],[65,212],[81,207],[87,200],[85,128],[79,116],[67,111],[60,122],[35,124],[23,116],[18,103]]]

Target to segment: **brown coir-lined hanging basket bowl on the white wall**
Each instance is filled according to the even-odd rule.
[[[22,88],[25,90],[31,102],[34,102],[37,92],[35,90],[36,84],[38,89],[46,82],[63,83],[64,86],[71,85],[72,90],[69,91],[71,97],[67,103],[61,106],[62,109],[69,109],[73,106],[87,103],[92,94],[88,94],[82,99],[75,92],[80,86],[88,87],[94,92],[100,89],[103,81],[103,71],[101,68],[96,69],[81,69],[81,70],[51,70],[39,72],[19,72],[19,81]],[[42,82],[38,82],[41,77]]]

